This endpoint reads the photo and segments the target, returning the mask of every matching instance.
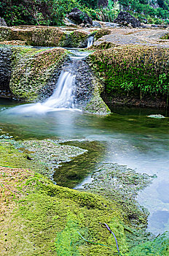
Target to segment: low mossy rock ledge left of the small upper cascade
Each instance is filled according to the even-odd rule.
[[[43,26],[0,28],[0,41],[4,42],[4,44],[9,44],[8,41],[18,41],[24,42],[25,45],[42,47],[85,48],[89,35],[90,31],[76,28],[67,30]]]

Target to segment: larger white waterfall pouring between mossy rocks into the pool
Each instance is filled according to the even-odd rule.
[[[58,78],[58,83],[52,96],[42,103],[20,105],[7,110],[9,113],[46,113],[58,110],[79,110],[76,109],[75,81],[79,61],[82,61],[90,53],[71,50],[74,56],[70,56],[71,63],[63,68]],[[81,111],[81,110],[79,110]]]

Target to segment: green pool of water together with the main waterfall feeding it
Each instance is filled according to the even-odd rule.
[[[162,233],[169,227],[169,118],[149,118],[149,114],[165,115],[153,109],[114,108],[108,116],[83,113],[76,107],[74,91],[76,67],[85,56],[83,52],[71,56],[54,93],[43,103],[23,105],[0,99],[0,129],[15,139],[54,138],[87,149],[87,153],[56,170],[54,179],[62,186],[80,183],[82,187],[103,163],[155,174],[157,178],[138,195],[138,201],[150,212],[148,230]],[[68,182],[66,177],[66,183],[62,183],[67,168],[79,171],[76,182]]]

